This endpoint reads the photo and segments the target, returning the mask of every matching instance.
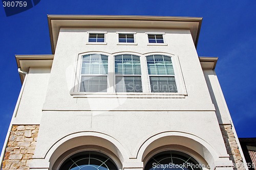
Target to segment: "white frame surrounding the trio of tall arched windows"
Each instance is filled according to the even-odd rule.
[[[102,54],[108,56],[108,85],[107,92],[80,92],[80,77],[81,77],[81,62],[83,55],[89,54]],[[114,56],[122,54],[131,54],[140,56],[140,65],[141,65],[141,83],[142,83],[142,92],[115,92],[115,58]],[[150,55],[165,55],[172,57],[172,63],[175,74],[175,81],[178,92],[151,92],[150,85],[150,76],[147,71],[147,61],[146,56]],[[146,53],[139,54],[134,52],[121,52],[121,53],[105,53],[105,52],[88,52],[81,53],[78,55],[76,60],[76,69],[74,70],[74,87],[73,91],[70,94],[73,98],[185,98],[187,95],[184,78],[179,62],[179,57],[174,54],[169,53]]]

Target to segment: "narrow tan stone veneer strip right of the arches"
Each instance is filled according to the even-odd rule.
[[[231,125],[220,125],[221,133],[225,142],[229,159],[233,162],[233,169],[244,170],[243,159],[238,148],[238,143],[234,137]]]

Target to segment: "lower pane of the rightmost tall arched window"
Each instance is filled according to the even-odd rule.
[[[150,77],[151,92],[178,92],[174,77]]]

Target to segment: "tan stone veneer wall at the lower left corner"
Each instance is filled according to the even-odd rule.
[[[28,170],[35,152],[39,125],[13,125],[3,161],[3,170]]]

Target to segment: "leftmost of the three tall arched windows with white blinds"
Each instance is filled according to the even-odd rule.
[[[82,56],[81,92],[106,92],[108,88],[108,56],[89,54]]]

